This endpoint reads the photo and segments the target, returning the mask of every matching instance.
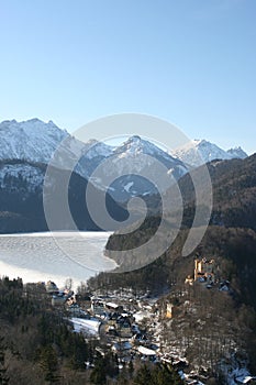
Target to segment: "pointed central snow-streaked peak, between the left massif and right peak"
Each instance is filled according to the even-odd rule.
[[[118,201],[157,194],[157,189],[165,191],[174,178],[179,179],[188,173],[188,167],[181,161],[138,135],[133,135],[116,146],[104,161],[101,175],[93,175],[92,183],[99,188],[104,186]],[[149,179],[159,177],[159,167],[162,178],[158,180],[162,179],[162,183],[154,185]],[[105,177],[114,183],[107,187],[103,182]]]

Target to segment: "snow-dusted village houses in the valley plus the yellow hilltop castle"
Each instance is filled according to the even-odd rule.
[[[214,260],[194,260],[193,277],[188,276],[185,286],[189,288],[194,283],[203,285],[205,290],[230,290],[227,280],[216,284]],[[75,332],[84,334],[85,340],[97,340],[97,354],[114,353],[120,370],[136,360],[165,362],[177,370],[186,384],[205,384],[207,375],[198,375],[190,369],[182,350],[170,349],[163,340],[163,324],[171,328],[171,320],[176,317],[176,306],[169,300],[159,300],[151,293],[134,294],[132,288],[75,294],[70,288],[58,289],[51,280],[45,284],[45,289],[51,296],[52,308],[60,312],[65,309],[63,317]],[[89,367],[90,363],[85,365]],[[254,378],[241,371],[234,383],[249,383]]]

